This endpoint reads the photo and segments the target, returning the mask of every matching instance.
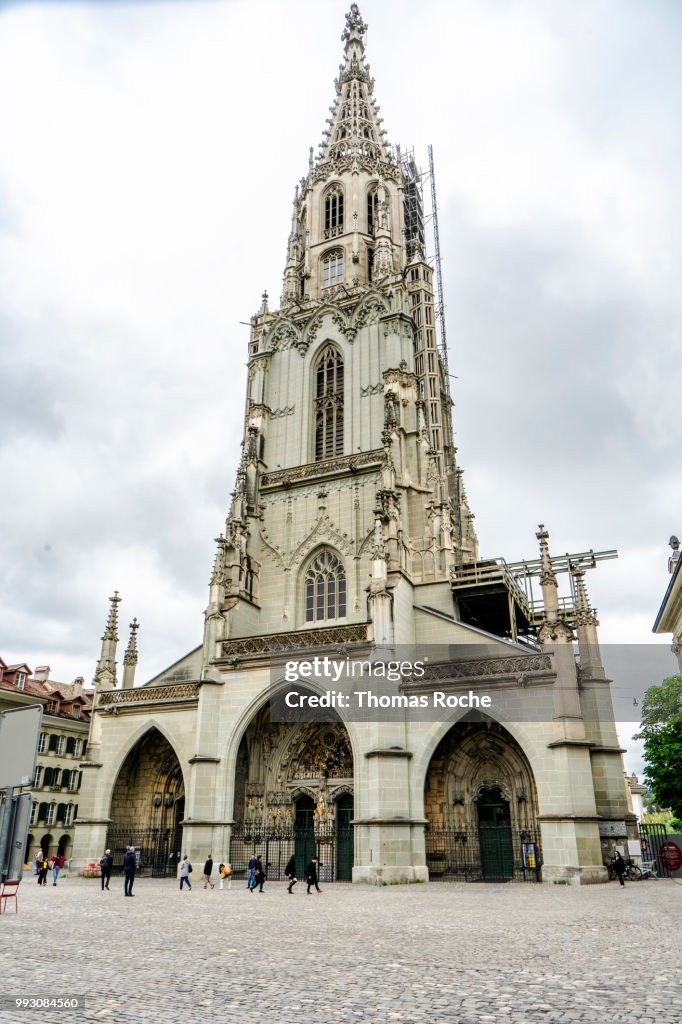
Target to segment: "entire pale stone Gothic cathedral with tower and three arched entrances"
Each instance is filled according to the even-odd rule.
[[[132,845],[157,876],[212,852],[237,877],[258,853],[272,880],[316,855],[328,882],[587,884],[635,835],[585,582],[614,552],[553,556],[543,525],[528,560],[479,552],[423,178],[382,127],[366,29],[353,4],[279,305],[263,294],[251,318],[203,639],[135,685],[133,623],[119,685],[111,598],[81,869]],[[418,660],[392,692],[425,705],[437,692],[439,709],[282,714],[287,667],[325,656]],[[308,694],[327,688],[306,679]]]

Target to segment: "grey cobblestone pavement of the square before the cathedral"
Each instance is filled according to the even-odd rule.
[[[27,877],[0,918],[4,995],[84,994],[61,1024],[679,1024],[682,886],[111,892]],[[11,980],[8,980],[11,979]]]

